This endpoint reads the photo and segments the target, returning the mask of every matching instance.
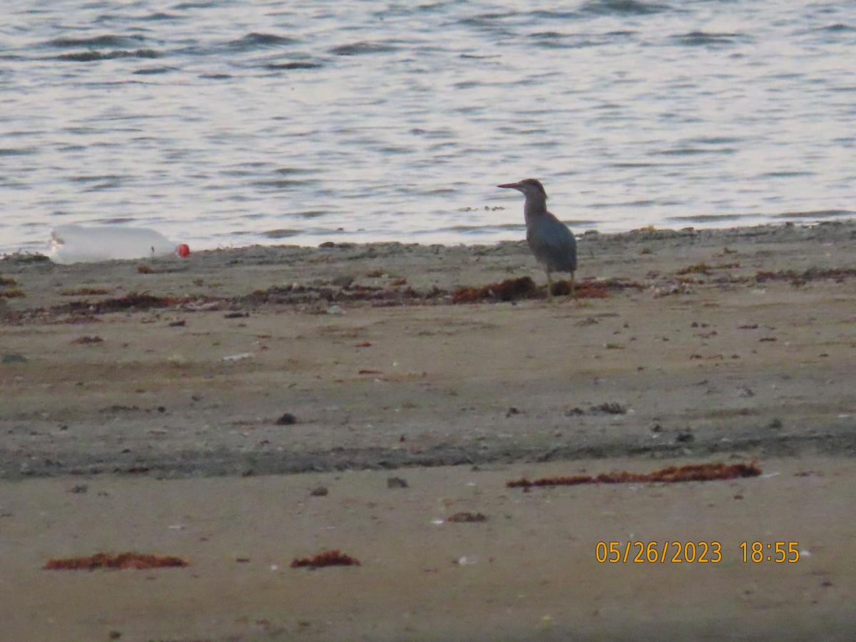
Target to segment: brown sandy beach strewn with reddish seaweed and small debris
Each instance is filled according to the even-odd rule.
[[[524,243],[0,260],[3,635],[850,639],[856,223],[579,252],[574,300]],[[43,570],[127,550],[188,566]]]

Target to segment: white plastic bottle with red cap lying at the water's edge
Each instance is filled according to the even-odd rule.
[[[150,259],[169,254],[187,257],[190,249],[184,243],[169,241],[153,229],[68,224],[51,229],[48,256],[54,263],[68,265],[111,259]]]

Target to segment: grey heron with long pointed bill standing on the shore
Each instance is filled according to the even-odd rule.
[[[516,183],[497,185],[516,189],[526,196],[523,216],[526,218],[526,242],[538,263],[547,271],[547,294],[553,295],[552,272],[571,273],[571,295],[574,296],[574,271],[577,269],[577,241],[565,223],[547,211],[547,193],[541,181],[526,178]]]

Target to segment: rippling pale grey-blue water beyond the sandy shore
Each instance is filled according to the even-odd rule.
[[[856,3],[0,0],[0,252],[853,217]]]

